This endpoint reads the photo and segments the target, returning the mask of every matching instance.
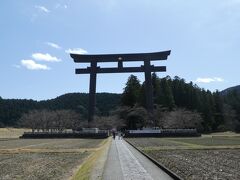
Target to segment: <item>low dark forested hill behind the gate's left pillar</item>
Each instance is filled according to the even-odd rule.
[[[108,115],[109,111],[120,104],[120,94],[97,93],[97,115]],[[23,113],[35,109],[61,110],[70,109],[87,116],[88,94],[69,93],[55,99],[34,101],[26,99],[2,99],[0,98],[0,126],[15,126]]]

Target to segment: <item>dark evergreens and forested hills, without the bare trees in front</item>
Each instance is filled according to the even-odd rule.
[[[155,73],[152,75],[152,83],[155,111],[158,111],[160,116],[165,114],[164,119],[167,121],[171,120],[170,116],[176,116],[172,118],[173,123],[179,121],[179,113],[184,115],[181,116],[182,120],[190,118],[187,115],[190,113],[191,117],[201,117],[201,122],[200,120],[194,121],[197,121],[197,126],[201,125],[199,129],[204,132],[240,131],[240,86],[222,92],[211,92],[192,82],[187,83],[180,77],[159,78]],[[96,115],[98,116],[108,116],[110,111],[120,107],[118,112],[120,114],[122,112],[122,117],[127,118],[129,113],[130,119],[142,119],[138,116],[144,112],[142,107],[145,107],[145,83],[141,84],[136,76],[131,75],[123,94],[97,93],[96,103]],[[121,111],[121,107],[122,110],[127,107],[126,111]],[[24,113],[43,109],[74,110],[81,114],[83,119],[86,119],[88,94],[69,93],[45,101],[2,99],[0,97],[0,126],[16,126]],[[190,122],[193,122],[191,118]]]

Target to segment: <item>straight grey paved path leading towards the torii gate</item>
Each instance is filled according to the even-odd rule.
[[[104,180],[172,179],[124,140],[112,141],[103,173]]]

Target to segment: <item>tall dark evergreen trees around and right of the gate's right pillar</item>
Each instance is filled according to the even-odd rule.
[[[174,121],[180,122],[177,115],[185,114],[184,119],[189,119],[186,114],[191,114],[195,118],[188,122],[194,122],[201,131],[240,131],[240,92],[211,92],[192,82],[186,83],[178,76],[159,78],[156,73],[152,74],[152,85],[155,111],[160,112],[160,116],[165,114],[165,120],[175,114]],[[124,88],[122,105],[145,107],[145,82],[141,84],[136,76],[131,75]]]

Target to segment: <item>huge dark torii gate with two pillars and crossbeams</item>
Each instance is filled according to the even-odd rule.
[[[151,65],[151,61],[167,60],[170,53],[171,51],[133,54],[70,54],[75,63],[90,63],[90,67],[75,69],[76,74],[90,74],[88,123],[94,118],[97,73],[144,72],[146,107],[151,116],[153,114],[153,87],[151,73],[166,71],[166,66],[154,66]],[[143,61],[144,65],[139,67],[123,67],[123,62],[127,61]],[[101,68],[97,66],[98,62],[117,62],[118,67]]]

